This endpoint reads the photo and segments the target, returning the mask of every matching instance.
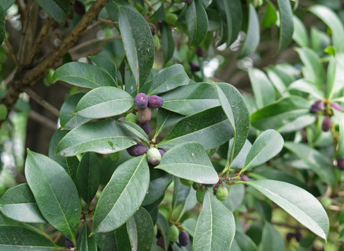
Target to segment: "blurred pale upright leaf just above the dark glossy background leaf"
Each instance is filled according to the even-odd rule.
[[[251,68],[249,70],[249,79],[251,81],[251,86],[258,109],[274,102],[274,87],[263,70]]]

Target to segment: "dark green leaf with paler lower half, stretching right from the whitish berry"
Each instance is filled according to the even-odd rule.
[[[158,146],[170,149],[176,144],[194,141],[209,150],[228,142],[232,137],[233,128],[226,114],[221,107],[214,107],[179,121]]]

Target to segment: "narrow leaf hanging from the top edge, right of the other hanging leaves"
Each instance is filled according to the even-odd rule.
[[[276,53],[286,49],[292,40],[294,24],[292,20],[292,7],[289,0],[277,0],[279,4],[279,49]]]

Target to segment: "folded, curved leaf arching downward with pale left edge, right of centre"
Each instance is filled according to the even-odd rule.
[[[230,121],[234,131],[234,142],[231,144],[230,162],[240,153],[249,135],[250,117],[249,110],[241,94],[231,84],[215,83],[217,95],[222,109]]]

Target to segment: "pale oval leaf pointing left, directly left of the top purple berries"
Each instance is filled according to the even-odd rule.
[[[134,98],[126,91],[117,87],[103,86],[88,91],[78,102],[75,114],[86,119],[102,119],[123,114],[132,105]]]

